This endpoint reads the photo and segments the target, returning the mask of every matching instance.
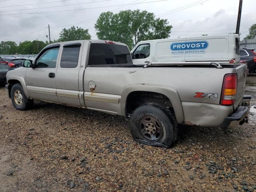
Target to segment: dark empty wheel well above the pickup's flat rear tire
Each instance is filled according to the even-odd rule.
[[[172,102],[164,94],[150,91],[135,91],[131,92],[126,99],[126,115],[132,112],[144,103],[157,103],[166,108],[169,108],[174,114]]]

